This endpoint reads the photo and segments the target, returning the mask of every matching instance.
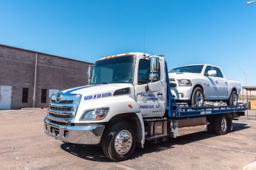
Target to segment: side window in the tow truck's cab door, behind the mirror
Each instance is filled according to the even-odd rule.
[[[158,67],[158,79],[160,80],[160,65]],[[150,75],[150,60],[148,59],[140,59],[139,69],[138,69],[138,84],[147,84],[151,82],[149,79]]]

